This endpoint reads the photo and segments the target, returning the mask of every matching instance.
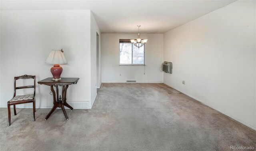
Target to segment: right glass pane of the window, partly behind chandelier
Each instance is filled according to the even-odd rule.
[[[144,46],[138,48],[132,45],[132,64],[144,64]]]

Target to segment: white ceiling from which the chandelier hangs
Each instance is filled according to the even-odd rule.
[[[236,0],[1,0],[1,10],[91,10],[102,33],[164,33]]]

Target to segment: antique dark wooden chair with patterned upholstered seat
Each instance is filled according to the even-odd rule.
[[[18,79],[34,79],[34,85],[16,87],[16,80],[18,80]],[[16,95],[16,89],[26,89],[26,88],[34,88],[34,94]],[[16,106],[15,106],[16,104],[33,102],[33,116],[34,116],[34,121],[36,120],[35,119],[35,112],[36,112],[35,94],[36,94],[36,76],[24,75],[24,76],[14,77],[14,95],[13,95],[12,99],[7,102],[8,126],[11,125],[10,105],[13,105],[14,115],[17,115]]]

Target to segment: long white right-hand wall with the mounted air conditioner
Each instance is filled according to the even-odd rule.
[[[173,63],[164,83],[253,129],[255,7],[255,1],[236,1],[164,33],[164,61]]]

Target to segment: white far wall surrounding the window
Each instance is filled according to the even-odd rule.
[[[138,34],[101,34],[102,82],[125,83],[137,80],[138,83],[162,83],[163,73],[163,34],[141,34],[148,39],[145,45],[144,66],[119,66],[119,39],[134,39]],[[121,76],[120,76],[121,74]]]

